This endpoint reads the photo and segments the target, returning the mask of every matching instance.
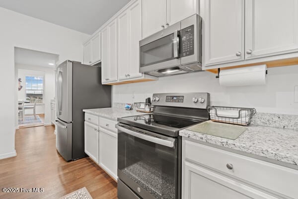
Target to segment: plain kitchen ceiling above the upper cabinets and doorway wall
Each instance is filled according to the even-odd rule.
[[[93,34],[130,0],[0,0],[0,7]]]

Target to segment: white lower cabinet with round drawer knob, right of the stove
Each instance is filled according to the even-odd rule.
[[[298,199],[298,170],[183,138],[182,199]]]

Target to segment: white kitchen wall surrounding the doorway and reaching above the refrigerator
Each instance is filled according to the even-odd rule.
[[[27,48],[60,55],[66,59],[83,61],[82,42],[89,35],[29,17],[0,7],[0,87],[6,92],[0,98],[0,159],[15,155],[14,150],[14,47]]]

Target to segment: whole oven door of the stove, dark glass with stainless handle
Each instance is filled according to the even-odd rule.
[[[118,178],[142,199],[180,199],[179,138],[162,136],[121,123],[116,127],[120,130]],[[126,199],[127,191],[125,193],[121,190],[118,190],[118,198]]]

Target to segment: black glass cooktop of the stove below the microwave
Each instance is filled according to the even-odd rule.
[[[203,122],[202,120],[172,117],[159,114],[144,114],[118,118],[124,124],[140,127],[169,136],[178,136],[179,130]]]

